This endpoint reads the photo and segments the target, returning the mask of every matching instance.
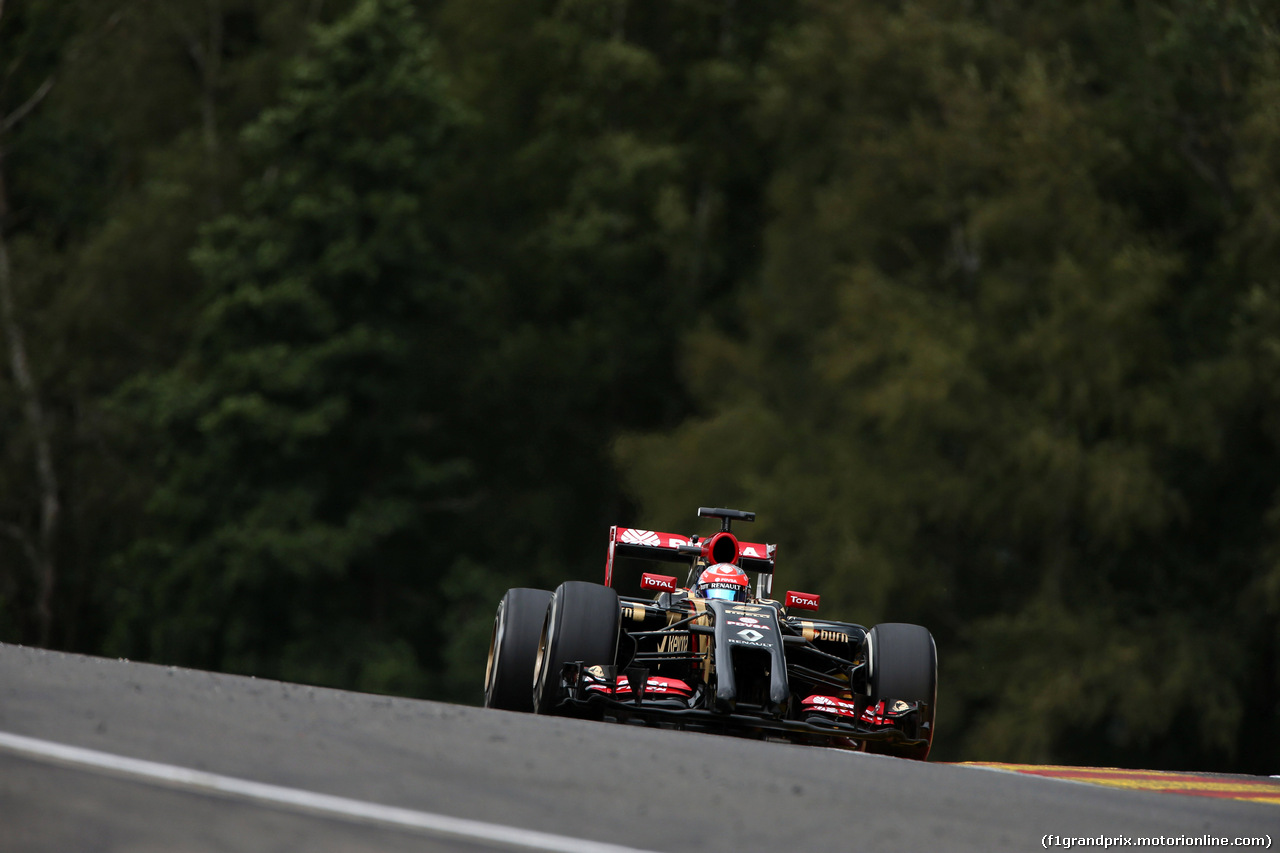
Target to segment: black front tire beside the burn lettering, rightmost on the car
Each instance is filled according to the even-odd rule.
[[[924,711],[904,731],[913,738],[928,738],[928,743],[916,747],[867,742],[864,752],[897,758],[924,761],[933,745],[933,719],[938,699],[938,652],[933,635],[919,625],[904,622],[884,622],[877,625],[867,635],[868,661],[870,663],[870,704],[881,701],[888,703],[924,702]]]

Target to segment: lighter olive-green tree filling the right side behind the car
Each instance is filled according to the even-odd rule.
[[[1233,164],[1275,22],[808,12],[760,99],[781,156],[745,333],[689,342],[701,416],[618,447],[649,516],[745,503],[780,579],[929,625],[943,754],[1256,768],[1275,620],[1224,613],[1258,588],[1277,460],[1224,247],[1271,186]]]

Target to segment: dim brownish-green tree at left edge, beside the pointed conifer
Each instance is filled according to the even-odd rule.
[[[3,231],[35,393],[6,346],[4,639],[101,651],[114,619],[108,556],[136,535],[154,484],[136,433],[105,403],[128,377],[177,359],[202,289],[188,260],[197,227],[239,183],[237,131],[274,96],[306,22],[339,5],[5,4],[0,111],[15,120],[3,134]]]

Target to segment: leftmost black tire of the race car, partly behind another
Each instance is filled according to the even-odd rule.
[[[538,643],[552,594],[545,589],[508,589],[498,603],[484,674],[484,707],[531,712]]]

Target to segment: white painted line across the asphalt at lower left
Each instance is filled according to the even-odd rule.
[[[26,738],[23,735],[9,734],[8,731],[0,731],[0,749],[8,749],[9,752],[24,756],[49,758],[65,765],[93,767],[178,788],[214,792],[307,812],[415,829],[431,835],[458,838],[468,841],[489,841],[522,850],[552,850],[554,853],[649,853],[631,847],[604,844],[602,841],[590,841],[567,835],[553,835],[552,833],[538,833],[516,826],[470,821],[461,817],[449,817],[448,815],[396,808],[394,806],[380,806],[378,803],[317,794],[297,788],[266,785],[247,779],[191,770],[189,767],[141,761],[96,749],[69,747],[54,743],[52,740]]]

